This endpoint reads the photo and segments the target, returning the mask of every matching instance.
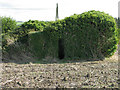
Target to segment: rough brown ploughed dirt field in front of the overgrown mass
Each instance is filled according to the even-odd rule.
[[[103,61],[1,63],[2,88],[118,88],[118,55]]]

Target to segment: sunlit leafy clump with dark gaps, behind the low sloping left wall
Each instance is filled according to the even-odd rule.
[[[44,28],[49,24],[51,24],[51,22],[29,20],[27,22],[24,22],[19,28],[17,28],[15,33],[19,35],[19,37],[23,37],[31,31],[43,31]]]

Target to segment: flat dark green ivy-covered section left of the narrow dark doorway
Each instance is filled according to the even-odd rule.
[[[45,57],[57,57],[57,39],[48,32],[36,32],[29,34],[29,46],[31,52],[39,59]]]

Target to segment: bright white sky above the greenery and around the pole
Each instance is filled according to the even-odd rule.
[[[59,19],[89,10],[99,10],[118,17],[120,0],[0,0],[0,16],[10,16],[17,21],[54,21],[56,3]]]

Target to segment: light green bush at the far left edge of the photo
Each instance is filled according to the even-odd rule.
[[[8,46],[8,44],[12,43],[13,40],[13,32],[15,32],[17,28],[17,22],[10,17],[0,17],[2,22],[2,49],[3,51]]]

